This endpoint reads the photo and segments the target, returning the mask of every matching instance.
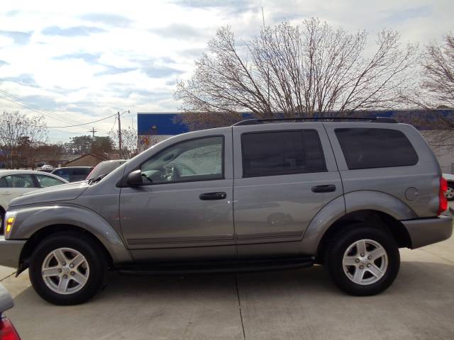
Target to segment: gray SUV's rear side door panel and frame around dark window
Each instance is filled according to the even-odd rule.
[[[263,153],[264,162],[272,159],[268,169],[266,169],[266,163],[261,163],[260,155],[257,157],[258,161],[255,161],[254,157],[252,159],[246,157],[245,162],[248,162],[248,166],[243,166],[243,157],[239,150],[243,149],[246,156],[247,150],[245,151],[245,145],[240,145],[240,141],[243,134],[250,132],[251,127],[234,128],[235,183],[233,190],[238,256],[299,255],[300,241],[306,227],[326,203],[343,192],[341,177],[333,159],[331,146],[326,140],[323,125],[305,123],[302,126],[304,129],[295,128],[294,123],[279,123],[278,127],[274,125],[272,128],[263,125],[252,127],[255,129],[254,132],[260,133],[311,131],[309,134],[311,141],[305,137],[301,140],[304,149],[296,145],[297,140],[288,135],[278,133],[270,139],[270,142],[264,139],[258,152]],[[317,135],[319,143],[314,143],[314,137]],[[248,139],[243,138],[243,141]],[[279,143],[284,145],[277,147]],[[292,153],[289,149],[295,149],[296,152]],[[267,153],[270,157],[265,157]],[[301,153],[305,156],[299,156]],[[321,156],[323,156],[324,167],[320,163]],[[252,167],[258,165],[258,169],[266,169],[265,176],[254,174],[254,170],[248,169],[251,167],[250,164],[253,164]],[[244,169],[248,169],[245,176],[243,176]],[[273,169],[277,173],[279,171],[301,171],[301,173],[272,176]],[[253,176],[248,177],[248,174]]]

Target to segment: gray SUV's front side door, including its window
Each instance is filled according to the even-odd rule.
[[[121,189],[121,229],[136,261],[236,256],[225,131],[161,148],[138,166],[144,185]]]

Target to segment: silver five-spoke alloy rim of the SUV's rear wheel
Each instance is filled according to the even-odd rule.
[[[372,239],[360,239],[348,246],[343,254],[345,275],[358,285],[371,285],[380,280],[388,268],[384,247]]]

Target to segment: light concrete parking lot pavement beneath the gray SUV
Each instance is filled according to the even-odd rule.
[[[93,300],[58,307],[28,273],[0,267],[28,339],[454,339],[454,238],[402,249],[397,280],[373,297],[338,290],[325,269],[120,276]]]

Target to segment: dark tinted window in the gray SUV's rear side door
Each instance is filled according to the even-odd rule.
[[[315,130],[245,133],[241,146],[243,177],[326,171]]]

